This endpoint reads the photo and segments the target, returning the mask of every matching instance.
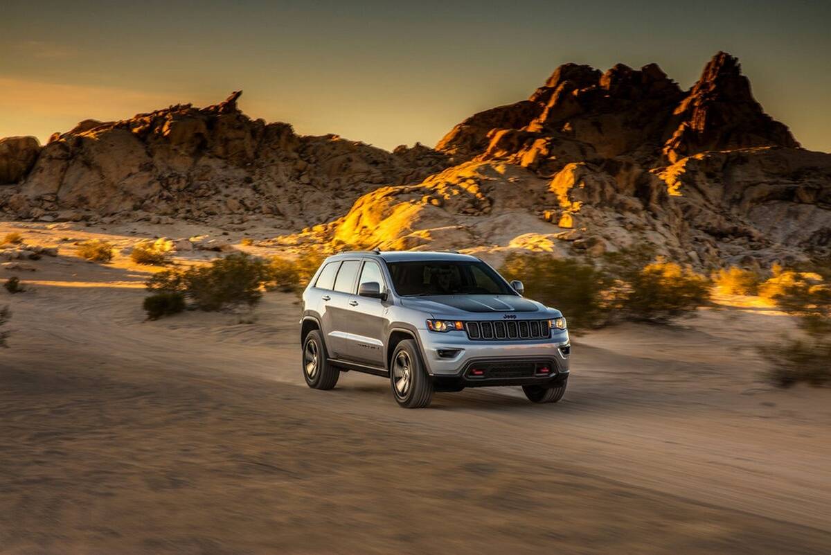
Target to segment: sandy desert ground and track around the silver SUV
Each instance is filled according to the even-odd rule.
[[[768,386],[756,349],[789,317],[725,299],[574,337],[557,405],[401,410],[374,376],[305,386],[293,295],[146,321],[152,268],[72,246],[195,233],[142,225],[0,223],[61,249],[0,269],[27,287],[0,302],[4,555],[831,553],[829,390]]]

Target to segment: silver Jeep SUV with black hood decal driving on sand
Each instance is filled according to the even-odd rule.
[[[556,403],[568,382],[566,320],[522,293],[465,254],[339,253],[303,292],[303,377],[328,390],[341,372],[383,376],[407,408],[482,386]]]

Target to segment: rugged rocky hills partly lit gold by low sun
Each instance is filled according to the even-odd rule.
[[[435,150],[297,135],[237,99],[87,120],[43,147],[0,140],[0,206],[47,221],[264,214],[287,246],[596,256],[653,243],[696,266],[831,249],[831,155],[800,148],[724,52],[689,91],[655,64],[560,66]]]

